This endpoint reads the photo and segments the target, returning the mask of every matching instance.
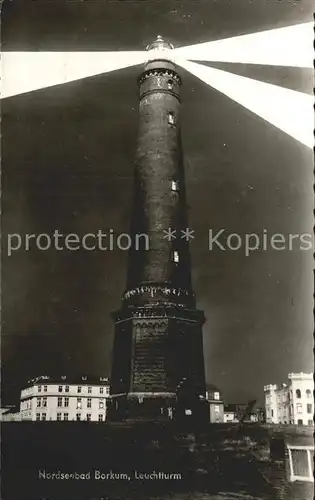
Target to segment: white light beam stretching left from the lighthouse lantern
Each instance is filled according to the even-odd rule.
[[[144,62],[141,52],[2,52],[1,98]]]

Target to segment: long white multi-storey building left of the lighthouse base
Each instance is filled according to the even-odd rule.
[[[21,420],[104,422],[108,396],[106,377],[40,376],[21,391]]]

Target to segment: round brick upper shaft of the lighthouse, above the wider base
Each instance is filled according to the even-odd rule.
[[[187,220],[179,85],[179,77],[167,68],[153,67],[140,80],[132,233],[148,234],[150,248],[137,250],[131,256],[128,287],[148,282],[191,287],[188,244],[180,238],[180,229],[186,229]],[[172,181],[177,183],[178,191],[172,190]],[[163,230],[169,228],[178,231],[173,241],[164,237]],[[175,265],[172,254],[176,250],[180,258]]]

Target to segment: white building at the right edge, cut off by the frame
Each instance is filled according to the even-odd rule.
[[[312,373],[289,373],[286,384],[265,385],[266,422],[313,425],[313,391]]]

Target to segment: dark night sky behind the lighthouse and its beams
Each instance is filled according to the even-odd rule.
[[[5,1],[3,50],[142,50],[157,33],[188,45],[312,20],[308,1]],[[213,64],[312,92],[306,70]],[[18,251],[7,233],[128,230],[141,67],[2,102],[3,402],[44,373],[109,374],[125,287],[123,251]],[[215,250],[209,228],[312,231],[312,152],[180,71],[193,281],[205,310],[207,379],[228,401],[311,371],[312,253]]]

